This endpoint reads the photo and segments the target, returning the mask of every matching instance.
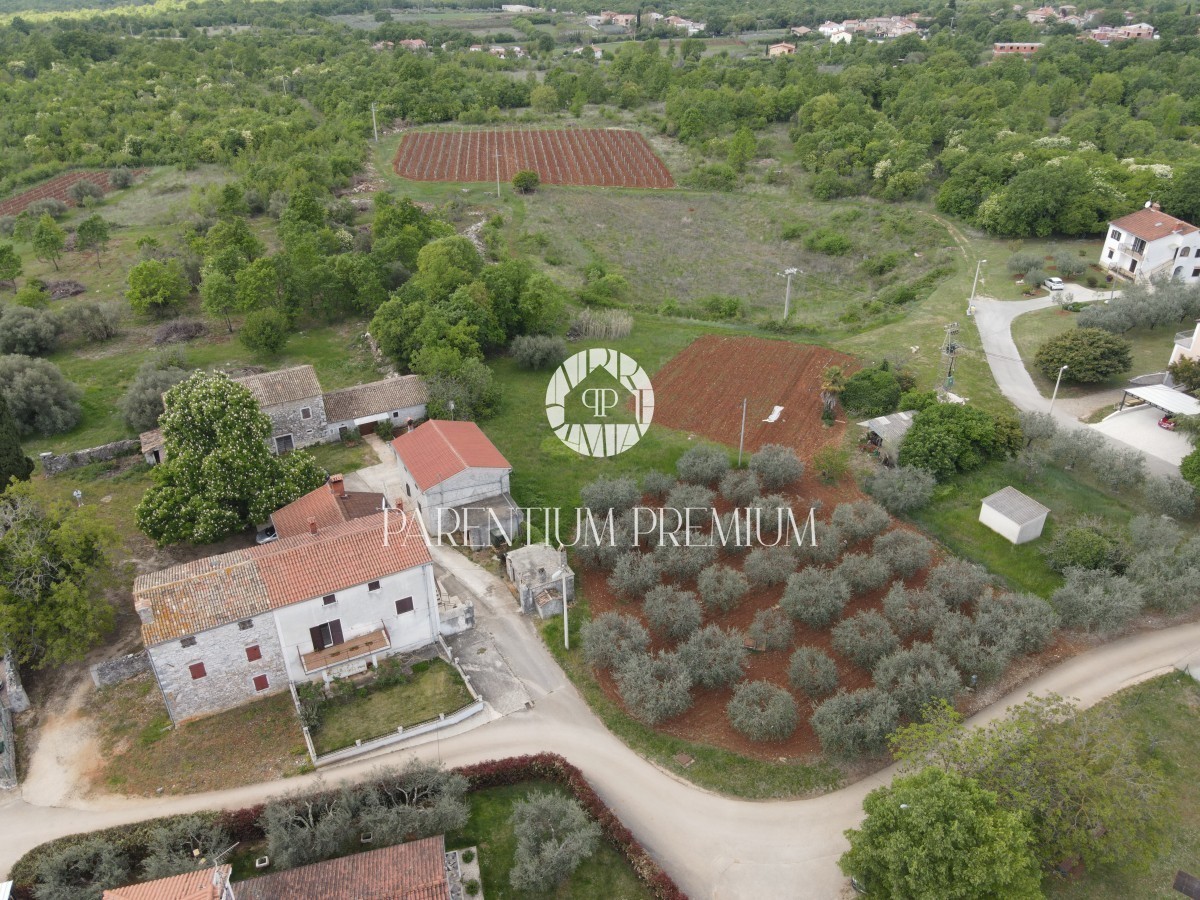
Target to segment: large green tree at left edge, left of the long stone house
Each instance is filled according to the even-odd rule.
[[[0,494],[0,642],[20,662],[82,659],[112,630],[115,546],[92,506],[46,503],[28,484]]]

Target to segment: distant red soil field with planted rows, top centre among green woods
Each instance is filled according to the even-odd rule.
[[[511,181],[536,172],[547,185],[674,187],[654,150],[636,131],[425,131],[406,134],[392,168],[413,181]]]

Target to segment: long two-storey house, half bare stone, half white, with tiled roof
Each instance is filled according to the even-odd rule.
[[[388,511],[143,575],[133,606],[176,724],[365,671],[440,630],[425,535]]]

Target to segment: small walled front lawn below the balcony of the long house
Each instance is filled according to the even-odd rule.
[[[365,697],[335,700],[322,707],[320,727],[312,732],[318,755],[427,722],[439,713],[462,709],[472,700],[454,666],[440,659],[415,664],[412,677],[403,684],[366,691]]]

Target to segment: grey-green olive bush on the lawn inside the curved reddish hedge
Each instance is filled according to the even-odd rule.
[[[517,800],[511,822],[517,847],[509,883],[518,892],[553,890],[600,844],[600,826],[588,818],[578,802],[562,794],[534,791]]]

